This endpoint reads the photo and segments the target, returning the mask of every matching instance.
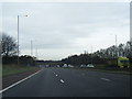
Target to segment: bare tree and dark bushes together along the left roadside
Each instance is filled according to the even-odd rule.
[[[2,40],[0,43],[0,45],[2,46],[2,64],[18,64],[18,44],[15,38],[6,33],[2,33]],[[22,55],[19,56],[19,63],[23,66],[35,66],[36,57],[30,55]]]

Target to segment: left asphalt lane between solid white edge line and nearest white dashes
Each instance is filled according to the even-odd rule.
[[[3,92],[3,97],[58,97],[64,95],[65,89],[62,82],[50,68]]]

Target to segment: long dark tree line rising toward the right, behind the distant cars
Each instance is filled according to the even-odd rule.
[[[117,66],[118,56],[123,56],[130,58],[132,63],[132,42],[127,42],[125,44],[119,44],[118,46],[112,45],[108,48],[101,48],[94,53],[84,53],[80,55],[72,55],[63,58],[62,62],[72,65],[106,65],[106,66]]]

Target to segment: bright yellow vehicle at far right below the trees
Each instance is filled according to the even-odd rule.
[[[129,58],[127,57],[118,57],[118,66],[123,68],[123,67],[130,67],[130,62]]]

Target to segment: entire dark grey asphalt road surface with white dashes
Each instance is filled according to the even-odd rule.
[[[129,75],[44,68],[3,97],[130,97]]]

